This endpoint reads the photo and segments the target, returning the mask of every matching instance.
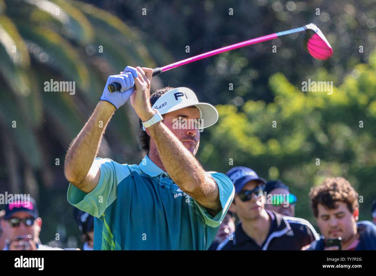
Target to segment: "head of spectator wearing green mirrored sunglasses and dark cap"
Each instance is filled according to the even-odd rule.
[[[280,180],[269,181],[266,184],[265,192],[267,201],[265,209],[277,213],[295,217],[296,196],[291,194],[290,188]]]

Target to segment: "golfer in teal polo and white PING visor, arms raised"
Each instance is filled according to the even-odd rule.
[[[234,196],[226,175],[205,172],[194,157],[199,129],[215,124],[217,110],[185,87],[150,96],[151,78],[152,69],[130,66],[110,76],[65,159],[68,201],[96,217],[94,250],[206,250]],[[109,92],[112,82],[120,92]],[[139,165],[96,158],[105,132],[99,121],[107,125],[128,98],[146,131],[147,155]],[[202,124],[174,127],[181,119]]]

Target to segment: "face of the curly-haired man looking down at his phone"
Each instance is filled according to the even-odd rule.
[[[341,237],[345,243],[356,234],[358,208],[350,213],[345,202],[338,202],[337,209],[329,210],[322,204],[318,204],[317,209],[317,226],[326,239]]]

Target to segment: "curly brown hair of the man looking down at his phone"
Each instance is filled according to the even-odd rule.
[[[358,193],[350,183],[342,177],[326,178],[318,187],[312,187],[309,192],[311,208],[315,217],[318,217],[317,205],[322,204],[328,209],[337,209],[338,202],[347,204],[350,213],[359,207]]]

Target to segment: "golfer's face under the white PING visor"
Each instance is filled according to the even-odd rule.
[[[186,120],[178,124],[179,117]],[[164,115],[163,123],[183,143],[193,155],[196,155],[200,144],[200,133],[194,122],[200,121],[200,110],[197,107],[185,107]],[[179,125],[181,127],[179,127]]]

